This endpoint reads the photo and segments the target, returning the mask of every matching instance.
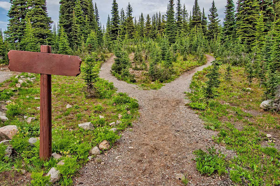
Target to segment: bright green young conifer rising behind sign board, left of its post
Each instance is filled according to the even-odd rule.
[[[34,36],[34,29],[31,26],[30,19],[26,21],[26,29],[24,31],[23,40],[20,43],[23,50],[30,52],[39,52],[39,42]]]

